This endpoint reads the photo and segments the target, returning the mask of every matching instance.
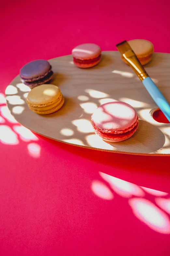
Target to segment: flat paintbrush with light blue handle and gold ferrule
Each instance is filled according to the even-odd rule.
[[[155,103],[158,105],[160,110],[163,112],[163,114],[170,122],[169,103],[167,102],[163,94],[160,92],[156,84],[149,77],[144,67],[141,65],[129,43],[127,41],[123,41],[121,43],[118,43],[116,47],[123,56],[123,58],[125,58],[125,60],[131,66],[131,68],[135,71],[136,75],[140,78],[152,99],[155,101]]]

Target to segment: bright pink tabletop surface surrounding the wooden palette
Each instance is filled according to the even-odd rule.
[[[170,52],[169,0],[1,1],[0,254],[170,255],[169,157],[45,139],[18,124],[4,93],[29,61],[80,43],[147,39]]]

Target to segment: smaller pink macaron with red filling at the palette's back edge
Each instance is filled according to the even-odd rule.
[[[73,62],[79,68],[90,68],[101,60],[101,49],[95,43],[84,43],[72,50]]]

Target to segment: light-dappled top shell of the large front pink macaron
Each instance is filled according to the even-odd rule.
[[[93,112],[92,124],[102,132],[123,133],[137,124],[137,113],[125,102],[108,102]]]

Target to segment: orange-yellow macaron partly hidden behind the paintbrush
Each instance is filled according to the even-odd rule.
[[[152,60],[154,48],[151,42],[144,39],[135,39],[128,41],[128,43],[142,65],[146,65],[150,60]],[[127,63],[123,57],[122,60]]]

